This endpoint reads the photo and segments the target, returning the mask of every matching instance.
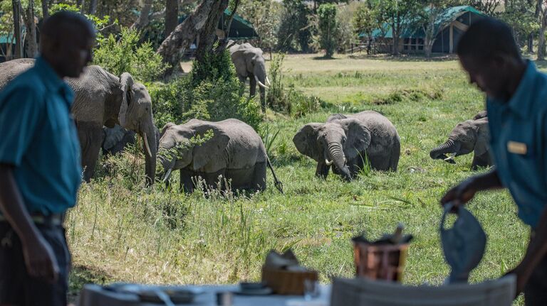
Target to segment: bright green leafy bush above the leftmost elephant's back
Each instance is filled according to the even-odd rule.
[[[122,28],[120,37],[110,34],[99,40],[93,62],[114,75],[129,72],[141,82],[152,82],[167,69],[162,57],[155,53],[150,43],[139,45],[139,33]]]

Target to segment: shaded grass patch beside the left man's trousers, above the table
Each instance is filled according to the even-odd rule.
[[[75,303],[85,284],[104,285],[110,283],[111,275],[98,268],[87,266],[73,266],[71,274],[68,276],[68,302]]]

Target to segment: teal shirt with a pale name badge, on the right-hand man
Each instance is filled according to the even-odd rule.
[[[528,61],[509,101],[486,99],[491,154],[519,218],[536,228],[547,204],[547,75]]]

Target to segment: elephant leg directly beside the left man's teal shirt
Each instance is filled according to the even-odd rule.
[[[95,124],[80,122],[76,124],[78,138],[82,151],[83,180],[89,182],[95,172],[95,165],[99,158],[100,143],[103,138],[103,127]]]

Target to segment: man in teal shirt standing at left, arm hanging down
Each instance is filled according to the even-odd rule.
[[[63,216],[81,182],[73,91],[95,30],[60,12],[41,28],[41,57],[0,92],[0,305],[66,305],[71,256]]]

